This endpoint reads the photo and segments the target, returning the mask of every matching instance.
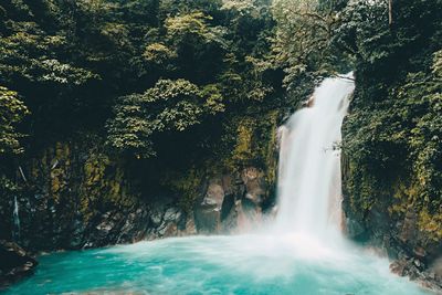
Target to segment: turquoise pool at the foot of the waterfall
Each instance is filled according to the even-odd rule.
[[[349,252],[349,253],[348,253]],[[194,236],[43,255],[6,294],[427,294],[361,250],[294,236]]]

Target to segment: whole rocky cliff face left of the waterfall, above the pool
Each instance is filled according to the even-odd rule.
[[[204,173],[197,173],[203,177],[189,192],[196,196],[183,206],[183,197],[171,191],[140,190],[125,164],[110,159],[99,145],[56,143],[20,167],[21,189],[0,201],[0,220],[6,221],[0,238],[35,252],[86,249],[225,233],[260,219],[270,194],[262,169]]]

